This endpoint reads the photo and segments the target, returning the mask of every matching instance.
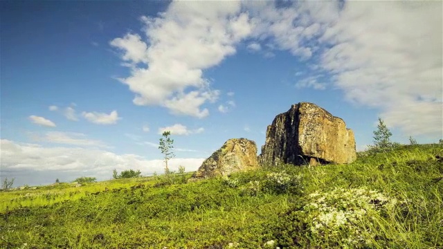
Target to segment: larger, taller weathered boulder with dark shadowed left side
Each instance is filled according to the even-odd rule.
[[[354,132],[346,129],[341,118],[307,102],[275,116],[259,156],[261,165],[352,163],[355,159]]]

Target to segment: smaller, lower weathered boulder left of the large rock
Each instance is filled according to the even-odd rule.
[[[204,160],[194,178],[227,176],[258,167],[257,145],[246,138],[233,138]]]

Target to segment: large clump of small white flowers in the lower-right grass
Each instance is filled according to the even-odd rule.
[[[309,199],[311,202],[302,211],[311,221],[312,236],[334,239],[350,246],[370,243],[370,238],[363,234],[363,218],[370,219],[375,213],[392,210],[397,204],[397,199],[365,188],[314,192]]]

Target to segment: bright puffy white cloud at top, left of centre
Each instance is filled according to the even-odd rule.
[[[132,65],[120,81],[136,94],[138,105],[159,105],[175,115],[208,116],[207,102],[217,98],[203,70],[233,55],[235,44],[252,30],[237,1],[173,1],[158,17],[142,17],[145,34],[127,34],[110,42]],[[147,45],[149,44],[149,46]],[[136,66],[138,64],[138,66]]]

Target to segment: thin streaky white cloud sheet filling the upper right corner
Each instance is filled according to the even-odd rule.
[[[323,89],[315,74],[355,104],[378,108],[407,136],[442,135],[441,1],[303,1],[288,8],[245,3],[253,36],[311,58],[298,87]],[[316,53],[314,53],[316,52]],[[314,76],[314,77],[313,77]]]

